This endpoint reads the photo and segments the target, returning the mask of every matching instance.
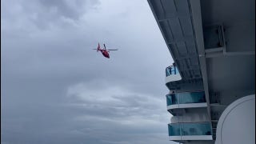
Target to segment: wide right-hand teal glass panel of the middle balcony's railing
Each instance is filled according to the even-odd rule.
[[[179,104],[206,102],[206,96],[203,91],[192,92],[192,93],[179,93],[178,99],[179,99]]]

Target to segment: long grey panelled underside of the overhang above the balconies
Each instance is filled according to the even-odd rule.
[[[187,0],[148,0],[182,80],[202,78]]]

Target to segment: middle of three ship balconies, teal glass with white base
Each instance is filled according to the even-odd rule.
[[[171,114],[175,113],[175,109],[207,107],[204,91],[167,94],[166,104]]]

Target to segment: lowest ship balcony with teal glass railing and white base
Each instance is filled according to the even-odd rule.
[[[168,124],[170,141],[212,140],[210,122],[170,123]]]

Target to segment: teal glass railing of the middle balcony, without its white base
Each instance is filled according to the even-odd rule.
[[[167,106],[187,104],[187,103],[203,103],[203,102],[206,102],[206,96],[204,91],[166,95]]]

